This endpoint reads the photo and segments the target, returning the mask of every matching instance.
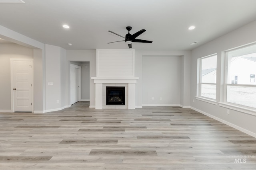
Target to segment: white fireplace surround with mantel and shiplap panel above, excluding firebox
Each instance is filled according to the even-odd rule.
[[[134,77],[134,49],[97,49],[95,109],[125,108],[135,109],[135,84],[138,77]],[[125,86],[126,97],[124,106],[106,106],[106,86]],[[128,91],[128,92],[127,92]]]

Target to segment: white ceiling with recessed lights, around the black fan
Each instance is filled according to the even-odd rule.
[[[138,39],[153,41],[132,43],[133,49],[190,50],[256,20],[256,0],[23,1],[0,4],[0,25],[64,49],[128,49],[107,44],[124,40],[108,30],[125,36],[132,26],[131,34],[146,29]]]

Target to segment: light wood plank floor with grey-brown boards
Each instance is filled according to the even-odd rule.
[[[256,170],[254,137],[192,109],[88,106],[0,113],[0,170]]]

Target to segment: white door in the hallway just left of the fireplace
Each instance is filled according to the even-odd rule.
[[[70,104],[80,101],[81,67],[70,64]]]

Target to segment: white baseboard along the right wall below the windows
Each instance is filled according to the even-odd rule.
[[[240,126],[234,125],[233,123],[230,123],[230,122],[228,122],[228,121],[225,121],[225,120],[223,120],[223,119],[220,119],[220,118],[218,118],[218,117],[216,117],[216,116],[214,116],[214,115],[211,115],[211,114],[209,114],[209,113],[206,113],[206,112],[204,112],[204,111],[202,111],[202,110],[196,109],[196,108],[194,108],[194,107],[190,107],[190,108],[193,109],[193,110],[195,110],[195,111],[198,111],[198,112],[200,112],[200,113],[202,113],[202,114],[204,114],[204,115],[206,115],[206,116],[208,116],[208,117],[211,117],[212,119],[215,119],[215,120],[217,120],[217,121],[220,121],[221,123],[224,123],[224,124],[226,124],[226,125],[228,125],[228,126],[231,126],[231,127],[235,128],[235,129],[237,129],[237,130],[239,130],[239,131],[242,131],[242,132],[244,132],[244,133],[246,133],[246,134],[248,134],[248,135],[250,135],[250,136],[256,138],[256,133],[253,133],[253,132],[251,132],[251,131],[248,131],[247,129],[244,129],[244,128],[240,127]]]

